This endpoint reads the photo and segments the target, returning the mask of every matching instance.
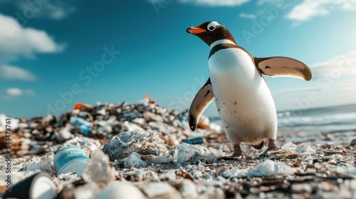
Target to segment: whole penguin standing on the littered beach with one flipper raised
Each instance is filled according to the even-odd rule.
[[[255,58],[237,45],[229,30],[221,23],[208,21],[187,28],[210,47],[209,79],[201,87],[189,108],[188,122],[192,131],[204,109],[215,100],[221,124],[234,146],[234,153],[224,159],[241,159],[240,144],[262,149],[268,141],[268,151],[278,150],[276,106],[263,75],[288,76],[306,81],[312,73],[307,65],[287,57]]]

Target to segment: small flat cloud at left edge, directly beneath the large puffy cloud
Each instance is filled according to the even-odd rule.
[[[11,65],[2,65],[0,66],[0,80],[33,81],[36,80],[36,77],[31,74],[31,72],[23,70],[22,68]]]

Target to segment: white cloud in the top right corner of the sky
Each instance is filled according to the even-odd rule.
[[[304,0],[302,3],[294,6],[287,14],[286,18],[303,22],[308,21],[316,16],[325,16],[333,10],[356,10],[355,0]]]

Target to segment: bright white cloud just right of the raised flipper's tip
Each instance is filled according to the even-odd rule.
[[[313,80],[318,80],[322,77],[330,77],[338,79],[356,75],[356,51],[345,55],[337,56],[323,63],[317,63],[310,68],[313,72]]]

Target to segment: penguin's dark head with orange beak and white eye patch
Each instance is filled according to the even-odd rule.
[[[198,36],[209,46],[211,43],[221,39],[229,39],[230,41],[236,43],[230,31],[224,25],[216,21],[208,21],[201,23],[197,27],[188,28],[187,33]]]

